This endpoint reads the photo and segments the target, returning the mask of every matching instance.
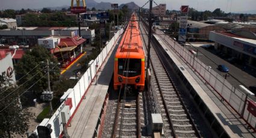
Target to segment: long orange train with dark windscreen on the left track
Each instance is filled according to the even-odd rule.
[[[114,90],[125,85],[138,91],[143,91],[145,86],[145,53],[134,13],[114,57]]]

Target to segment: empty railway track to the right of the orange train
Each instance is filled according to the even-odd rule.
[[[146,32],[146,29],[143,29]],[[164,135],[167,137],[201,137],[191,115],[186,106],[184,106],[172,77],[166,71],[163,61],[158,57],[154,48],[151,49],[150,60],[151,85],[155,85],[157,103],[160,104],[160,113],[164,122]]]

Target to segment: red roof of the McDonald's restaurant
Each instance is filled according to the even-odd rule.
[[[86,40],[84,38],[75,36],[72,38],[60,38],[60,43],[58,46],[79,46],[83,44]]]

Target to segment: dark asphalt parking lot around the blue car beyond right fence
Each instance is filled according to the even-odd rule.
[[[237,88],[239,88],[239,85],[244,85],[246,88],[256,85],[256,78],[251,74],[243,71],[243,68],[239,68],[239,65],[237,65],[236,62],[236,65],[231,64],[230,62],[222,59],[227,57],[220,58],[220,56],[217,56],[217,52],[213,52],[214,49],[211,49],[211,51],[207,48],[203,48],[203,44],[204,43],[192,43],[193,47],[189,44],[186,44],[186,48],[195,52],[198,51],[198,59],[204,62],[205,65],[210,66],[214,71],[219,73],[224,78],[226,77],[226,80],[228,80],[229,83],[236,86]],[[217,69],[217,66],[222,64],[229,68],[228,73],[223,73]]]

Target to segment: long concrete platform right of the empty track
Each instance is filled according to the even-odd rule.
[[[211,86],[205,83],[204,79],[202,79],[199,74],[193,71],[192,68],[186,64],[186,61],[180,57],[180,55],[177,55],[176,52],[170,49],[168,44],[161,37],[158,37],[158,39],[160,39],[160,41],[163,43],[163,49],[167,49],[167,54],[169,55],[170,59],[172,59],[178,70],[180,67],[185,68],[184,70],[180,69],[180,72],[186,78],[187,83],[190,83],[199,97],[201,97],[201,100],[204,102],[205,106],[207,106],[207,109],[203,111],[204,116],[206,116],[208,112],[207,110],[210,110],[215,118],[215,121],[219,122],[226,135],[229,137],[256,137],[254,130],[248,127],[246,122],[240,118],[240,116],[229,106],[229,104],[223,101],[222,97],[220,97],[217,92],[211,88]],[[214,121],[210,124],[212,128],[214,127],[213,124]],[[223,134],[220,134],[220,137],[223,136]]]

